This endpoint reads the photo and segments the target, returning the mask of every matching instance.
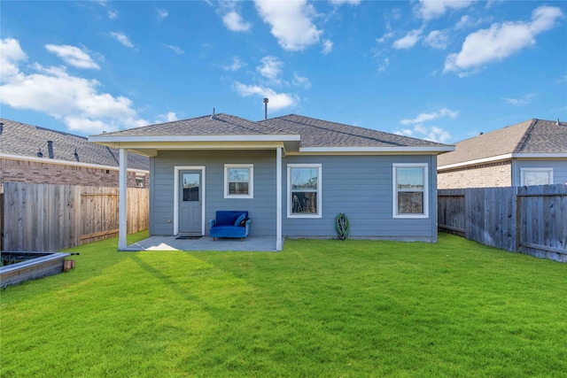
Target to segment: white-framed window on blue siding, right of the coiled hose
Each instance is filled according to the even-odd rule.
[[[427,164],[394,164],[393,217],[428,218]]]

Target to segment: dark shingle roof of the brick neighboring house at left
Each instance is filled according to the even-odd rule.
[[[86,137],[13,120],[0,119],[0,122],[3,123],[0,126],[0,157],[43,159],[46,163],[52,159],[74,165],[119,166],[118,150],[89,143]],[[43,157],[38,156],[40,150]],[[141,155],[128,154],[128,168],[149,171],[150,161]]]

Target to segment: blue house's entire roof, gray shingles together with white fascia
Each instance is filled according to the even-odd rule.
[[[141,143],[200,142],[286,142],[286,150],[302,151],[428,151],[445,152],[453,146],[408,136],[394,135],[363,127],[295,114],[254,122],[229,114],[198,117],[190,120],[137,127],[94,135],[94,143],[143,149]],[[128,143],[128,144],[125,144]],[[295,143],[295,144],[293,144]],[[159,148],[154,146],[152,148]],[[142,151],[142,150],[140,150]],[[150,152],[148,152],[150,154]]]

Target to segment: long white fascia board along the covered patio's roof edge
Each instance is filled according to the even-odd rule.
[[[92,143],[160,143],[160,142],[299,142],[301,135],[93,135]]]

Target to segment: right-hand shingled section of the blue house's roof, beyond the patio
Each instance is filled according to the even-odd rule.
[[[260,124],[274,128],[276,134],[301,135],[301,147],[447,147],[446,144],[296,114],[262,120]]]

